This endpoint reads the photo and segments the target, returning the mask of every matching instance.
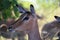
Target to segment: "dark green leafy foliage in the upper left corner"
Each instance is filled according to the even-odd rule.
[[[14,11],[14,14],[16,17],[19,16],[19,13],[17,12],[17,8],[15,7],[15,4],[17,4],[16,0],[0,0],[0,12],[3,19],[13,17],[12,10]]]

